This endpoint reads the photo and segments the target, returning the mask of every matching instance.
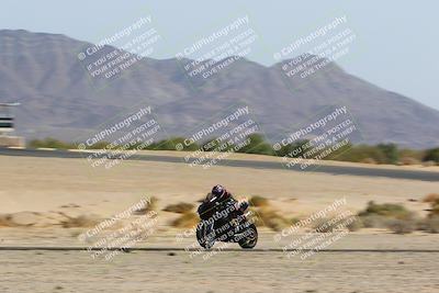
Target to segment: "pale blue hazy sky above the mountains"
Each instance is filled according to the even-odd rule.
[[[61,33],[97,42],[142,15],[151,15],[164,42],[151,55],[173,57],[190,42],[248,15],[260,41],[249,59],[273,53],[335,18],[357,35],[338,59],[348,72],[439,110],[439,1],[121,1],[2,0],[0,29]]]

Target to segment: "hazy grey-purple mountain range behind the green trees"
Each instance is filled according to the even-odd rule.
[[[14,111],[18,134],[72,142],[147,104],[157,109],[169,135],[185,135],[239,103],[249,106],[267,136],[279,137],[327,106],[346,105],[361,129],[361,143],[439,146],[439,111],[354,77],[335,63],[303,82],[283,75],[282,66],[291,60],[267,67],[240,58],[198,83],[176,58],[145,57],[100,87],[78,59],[90,46],[59,34],[0,31],[0,102],[21,103]]]

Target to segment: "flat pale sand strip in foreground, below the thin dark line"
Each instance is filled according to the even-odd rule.
[[[430,253],[319,252],[291,260],[270,252],[135,251],[113,262],[77,251],[0,251],[0,291],[16,292],[419,292],[439,291]]]

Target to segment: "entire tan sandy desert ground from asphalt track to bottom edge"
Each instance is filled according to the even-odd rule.
[[[92,168],[86,159],[5,156],[0,157],[0,214],[20,224],[0,227],[0,292],[439,291],[437,234],[361,229],[328,249],[374,251],[320,251],[302,260],[280,250],[241,251],[232,245],[236,250],[203,259],[205,251],[191,258],[190,251],[176,250],[187,248],[194,238],[178,240],[181,230],[169,226],[177,215],[161,211],[171,203],[196,204],[213,184],[222,183],[237,198],[266,196],[290,216],[306,216],[340,198],[347,199],[344,209],[352,212],[374,200],[403,203],[424,215],[428,204],[421,199],[438,192],[437,182],[232,167],[201,170],[150,161],[123,161],[106,170]],[[66,217],[108,218],[146,196],[158,199],[159,224],[136,247],[170,250],[134,250],[111,261],[92,259],[85,250],[11,250],[31,246],[86,249],[78,235],[87,228],[64,228],[60,223]],[[291,240],[274,243],[274,235],[261,228],[257,248],[281,249]]]

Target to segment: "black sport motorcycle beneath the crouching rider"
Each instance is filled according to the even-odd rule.
[[[244,205],[244,209],[243,209]],[[251,212],[244,213],[248,203],[229,204],[210,195],[198,213],[201,222],[196,226],[196,240],[200,246],[211,249],[216,241],[237,243],[241,248],[251,249],[258,241],[258,230],[248,219]]]

